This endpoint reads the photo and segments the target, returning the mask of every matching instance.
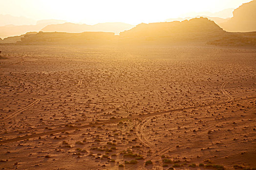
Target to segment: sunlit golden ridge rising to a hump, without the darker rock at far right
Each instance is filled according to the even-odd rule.
[[[102,32],[84,33],[38,33],[27,34],[21,38],[21,43],[66,43],[66,44],[90,44],[102,43],[169,43],[185,41],[206,41],[215,39],[216,36],[225,34],[218,25],[208,18],[193,18],[185,21],[159,22],[139,24],[136,27],[121,32],[120,35]],[[107,39],[105,39],[105,38]]]

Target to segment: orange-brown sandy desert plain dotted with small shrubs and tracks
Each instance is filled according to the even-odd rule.
[[[2,169],[256,168],[256,50],[0,50]]]

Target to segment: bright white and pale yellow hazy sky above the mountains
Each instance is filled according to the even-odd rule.
[[[0,14],[70,22],[157,22],[188,12],[218,12],[251,0],[0,0]]]

